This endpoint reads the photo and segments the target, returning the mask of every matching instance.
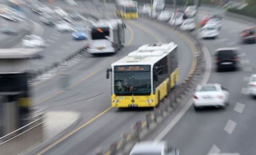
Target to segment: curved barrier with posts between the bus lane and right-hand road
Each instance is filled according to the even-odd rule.
[[[202,72],[205,69],[205,56],[202,50],[203,44],[201,40],[197,37],[195,32],[183,31],[178,27],[170,25],[168,22],[161,22],[148,16],[140,15],[140,18],[149,20],[150,22],[155,22],[169,28],[170,30],[179,33],[184,38],[189,39],[189,41],[196,48],[197,53],[195,53],[194,58],[196,59],[195,69],[189,73],[186,80],[175,87],[164,99],[161,101],[160,105],[154,108],[153,112],[149,112],[145,115],[144,121],[135,122],[132,131],[130,133],[122,133],[121,140],[119,142],[115,141],[111,143],[110,148],[104,153],[103,149],[97,149],[95,155],[122,155],[124,150],[130,151],[132,146],[146,138],[147,134],[152,132],[158,124],[160,124],[164,118],[171,115],[172,112],[182,103],[183,99],[189,95],[192,95],[191,91],[194,91],[197,83],[202,77]],[[125,152],[125,153],[128,153]]]

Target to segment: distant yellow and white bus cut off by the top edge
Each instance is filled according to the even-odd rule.
[[[133,0],[117,0],[117,17],[122,19],[138,19],[138,4]]]

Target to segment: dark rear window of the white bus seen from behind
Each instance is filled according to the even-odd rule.
[[[93,40],[106,39],[106,36],[109,36],[109,28],[92,28],[91,35]]]

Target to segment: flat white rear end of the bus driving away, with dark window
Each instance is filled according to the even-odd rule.
[[[88,42],[88,53],[115,53],[114,42],[111,41],[112,32],[109,27],[91,28]]]

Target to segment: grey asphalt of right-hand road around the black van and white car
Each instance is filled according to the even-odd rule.
[[[200,12],[199,18],[207,13]],[[241,48],[239,71],[216,72],[215,64],[212,64],[212,68],[207,68],[211,70],[208,83],[220,83],[230,89],[230,105],[224,109],[206,109],[199,112],[195,112],[191,106],[163,138],[159,136],[162,133],[159,130],[149,139],[162,138],[170,141],[183,155],[255,155],[256,100],[246,94],[246,87],[248,78],[256,72],[256,44],[239,42],[239,32],[249,25],[247,22],[224,17],[219,38],[204,41],[211,55],[221,47]],[[165,130],[164,128],[161,130]]]

